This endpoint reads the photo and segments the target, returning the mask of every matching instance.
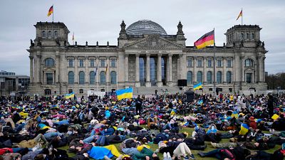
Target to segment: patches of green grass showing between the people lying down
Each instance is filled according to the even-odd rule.
[[[146,127],[146,126],[141,126],[141,127]],[[188,128],[188,127],[183,127],[181,130],[180,130],[180,132],[187,132],[188,134],[189,134],[189,136],[190,135],[192,135],[192,132],[194,131],[194,128]],[[265,132],[265,133],[268,133],[268,132]],[[221,141],[221,143],[225,143],[225,142],[229,142],[229,139],[222,139],[222,141]],[[204,152],[206,152],[206,151],[212,151],[214,148],[212,147],[212,145],[210,144],[210,142],[205,142],[205,144],[207,144],[207,148],[204,150]],[[120,153],[123,153],[121,150],[120,150],[120,144],[114,144],[116,147],[117,147],[117,149],[118,149],[118,151],[120,151]],[[147,145],[149,145],[150,146],[150,149],[152,149],[152,151],[155,151],[156,149],[158,149],[158,145],[157,144],[147,144]],[[277,149],[280,149],[280,145],[276,145],[275,147],[274,147],[274,149],[269,149],[269,150],[266,150],[266,152],[268,152],[268,153],[273,153],[274,151],[276,151]],[[61,147],[61,148],[59,148],[59,149],[63,149],[63,150],[68,150],[68,146],[63,146],[63,147]],[[197,158],[197,160],[199,160],[199,159],[209,159],[209,160],[213,160],[213,159],[215,159],[215,158],[210,158],[210,157],[207,157],[207,158],[202,158],[202,157],[200,157],[200,156],[198,156],[197,155],[197,153],[199,152],[199,151],[197,151],[197,150],[191,150],[191,152],[192,152],[192,154],[194,154],[194,156],[195,156],[195,158]],[[73,154],[73,153],[68,153],[68,156],[75,156],[75,154]],[[158,156],[160,157],[160,160],[162,160],[163,159],[163,155],[162,154],[158,154]]]

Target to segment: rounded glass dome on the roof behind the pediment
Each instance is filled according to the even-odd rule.
[[[128,26],[126,29],[128,35],[142,35],[142,34],[159,34],[167,35],[162,26],[150,20],[140,20]]]

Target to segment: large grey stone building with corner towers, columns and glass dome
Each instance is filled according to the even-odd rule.
[[[202,82],[204,92],[214,92],[215,87],[232,93],[247,93],[252,87],[257,92],[266,90],[267,51],[260,41],[259,26],[233,26],[225,33],[224,46],[199,50],[185,45],[182,23],[178,23],[176,35],[167,35],[149,20],[128,28],[123,21],[118,46],[99,46],[98,42],[94,46],[88,42],[70,45],[64,23],[38,22],[35,27],[36,38],[28,49],[32,94],[167,88],[177,87],[179,81],[187,82],[185,89]]]

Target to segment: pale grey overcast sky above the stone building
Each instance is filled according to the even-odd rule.
[[[127,27],[140,19],[150,19],[165,28],[167,34],[176,34],[182,22],[187,46],[193,46],[204,33],[215,28],[217,46],[226,41],[228,28],[236,21],[243,8],[245,24],[257,24],[266,50],[265,70],[269,73],[285,72],[285,1],[284,0],[84,0],[84,1],[18,1],[0,2],[0,70],[29,75],[26,49],[35,38],[34,24],[52,21],[47,17],[54,4],[54,21],[66,24],[69,42],[75,33],[78,44],[117,45],[120,23]]]

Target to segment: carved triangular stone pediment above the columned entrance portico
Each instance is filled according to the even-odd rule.
[[[151,35],[127,44],[125,48],[182,48],[182,45],[168,41],[159,35]]]

